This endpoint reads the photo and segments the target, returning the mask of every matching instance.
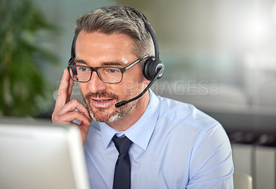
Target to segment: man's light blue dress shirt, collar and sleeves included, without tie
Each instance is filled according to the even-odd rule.
[[[126,135],[131,188],[233,188],[233,160],[226,132],[195,106],[157,97],[132,127],[117,132],[92,121],[84,145],[91,189],[112,188],[119,152],[111,140]]]

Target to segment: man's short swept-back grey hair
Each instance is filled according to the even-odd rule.
[[[146,54],[152,55],[154,54],[152,38],[144,26],[144,21],[148,22],[148,19],[142,12],[128,6],[97,8],[77,19],[75,40],[81,30],[88,33],[126,34],[132,39],[133,53],[137,58]]]

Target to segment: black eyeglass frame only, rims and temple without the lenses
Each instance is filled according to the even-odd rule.
[[[118,82],[107,82],[107,81],[103,81],[103,82],[104,83],[109,83],[109,84],[117,84],[117,83],[120,83],[123,80],[124,72],[126,72],[127,70],[129,70],[130,68],[132,68],[133,66],[135,66],[137,63],[139,63],[140,61],[142,61],[142,60],[144,60],[144,59],[146,59],[148,57],[150,57],[150,56],[149,55],[145,55],[144,57],[141,57],[141,58],[137,59],[137,61],[134,61],[134,62],[130,63],[130,65],[126,66],[125,68],[118,68],[118,67],[111,67],[111,66],[107,66],[107,67],[106,66],[102,66],[102,67],[77,66],[77,65],[72,65],[72,62],[75,61],[75,59],[72,59],[72,61],[67,66],[67,69],[68,69],[68,72],[69,72],[70,77],[72,78],[72,80],[74,80],[76,82],[79,82],[79,83],[86,83],[86,82],[90,81],[90,79],[92,77],[92,72],[93,71],[96,72],[97,75],[98,75],[98,77],[99,77],[99,79],[101,79],[101,81],[103,81],[103,79],[101,78],[101,75],[98,72],[98,69],[99,68],[113,68],[113,69],[116,68],[116,69],[120,70],[120,72],[121,72],[121,80],[118,81]],[[77,81],[76,79],[74,79],[72,77],[72,75],[71,75],[71,72],[70,72],[70,68],[73,67],[73,66],[74,67],[82,67],[82,68],[84,67],[84,68],[90,69],[91,70],[91,74],[90,74],[90,78],[88,79],[88,81]],[[72,74],[74,74],[74,73],[72,73]]]

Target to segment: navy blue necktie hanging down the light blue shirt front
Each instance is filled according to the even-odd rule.
[[[129,189],[130,188],[130,159],[128,149],[132,141],[127,137],[113,137],[112,141],[119,152],[119,156],[115,166],[115,174],[113,181],[113,189]]]

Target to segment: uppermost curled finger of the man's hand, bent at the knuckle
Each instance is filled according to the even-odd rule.
[[[66,112],[75,111],[76,109],[92,121],[92,118],[86,106],[84,106],[83,103],[81,103],[77,99],[72,99],[71,101],[66,103],[66,105],[59,110],[59,115],[65,114]]]

